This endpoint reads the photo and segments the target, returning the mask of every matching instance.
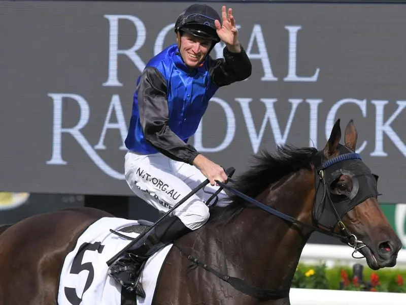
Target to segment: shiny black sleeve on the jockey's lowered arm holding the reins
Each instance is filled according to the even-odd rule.
[[[162,74],[153,67],[146,67],[137,90],[141,127],[147,142],[166,157],[192,165],[197,150],[167,126],[167,86]]]

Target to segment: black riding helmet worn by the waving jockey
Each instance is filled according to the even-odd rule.
[[[175,33],[186,32],[193,36],[212,40],[212,48],[220,38],[214,20],[221,22],[220,15],[206,4],[192,4],[179,15],[175,23]]]

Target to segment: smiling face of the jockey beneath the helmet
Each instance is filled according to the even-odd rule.
[[[185,65],[189,68],[196,68],[205,58],[211,45],[210,40],[183,33],[180,37],[180,52]]]

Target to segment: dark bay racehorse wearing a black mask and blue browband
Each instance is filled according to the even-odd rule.
[[[352,120],[344,138],[342,145],[337,120],[321,151],[286,146],[256,156],[251,169],[224,185],[232,203],[211,207],[205,226],[175,241],[153,303],[290,304],[289,287],[314,231],[349,243],[372,269],[394,266],[401,242],[379,207],[377,176],[354,153]],[[112,215],[74,208],[4,228],[0,305],[56,304],[65,256],[104,217]]]

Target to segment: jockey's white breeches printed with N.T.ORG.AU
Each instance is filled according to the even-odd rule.
[[[174,161],[160,153],[137,155],[128,151],[125,155],[124,173],[130,189],[162,212],[168,211],[206,180],[196,167]],[[176,208],[173,214],[189,229],[200,228],[209,219],[209,208],[205,202],[218,188],[208,184]],[[224,191],[221,191],[218,205],[228,204],[222,200],[226,197]],[[210,204],[213,202],[214,200]]]

